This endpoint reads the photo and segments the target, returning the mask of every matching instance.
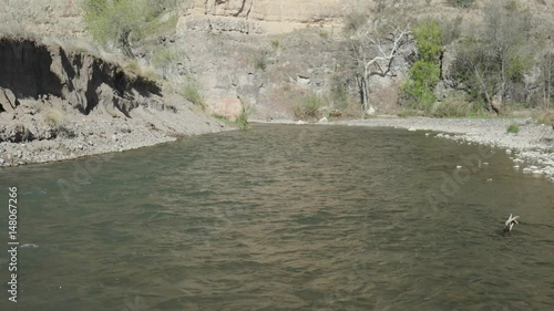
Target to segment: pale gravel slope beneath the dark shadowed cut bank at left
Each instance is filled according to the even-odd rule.
[[[0,136],[25,135],[18,133],[23,124],[34,139],[21,138],[17,143],[0,139],[0,167],[123,152],[176,141],[179,136],[232,129],[220,121],[186,106],[177,111],[138,107],[133,111],[132,118],[66,114],[63,129],[55,132],[35,114],[22,114],[13,120],[6,118],[3,114],[0,114],[0,121],[3,121],[0,123]]]

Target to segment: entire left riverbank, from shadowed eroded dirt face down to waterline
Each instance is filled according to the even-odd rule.
[[[0,165],[123,151],[225,128],[156,82],[82,52],[0,39]],[[24,144],[14,144],[24,143]]]

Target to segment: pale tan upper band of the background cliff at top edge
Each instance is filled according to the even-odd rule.
[[[195,0],[183,3],[177,29],[284,33],[309,23],[338,24],[339,0]]]

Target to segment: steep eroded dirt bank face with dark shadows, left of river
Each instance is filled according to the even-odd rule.
[[[100,108],[129,117],[148,97],[162,96],[154,81],[126,74],[114,63],[28,39],[0,39],[0,87],[16,99],[52,95],[85,115]]]

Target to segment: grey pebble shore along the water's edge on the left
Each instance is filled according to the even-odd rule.
[[[181,116],[182,118],[177,118]],[[174,120],[171,120],[171,118]],[[179,136],[217,133],[232,129],[208,117],[168,114],[175,125],[173,133],[148,126],[144,121],[131,118],[76,118],[65,124],[69,135],[53,139],[0,143],[0,167],[37,163],[51,163],[78,157],[117,153],[176,141]],[[181,125],[181,128],[177,126]]]

